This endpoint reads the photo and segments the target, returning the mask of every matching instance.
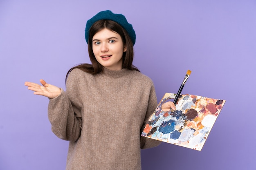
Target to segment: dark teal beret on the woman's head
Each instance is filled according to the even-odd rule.
[[[99,21],[99,20],[112,20],[112,21],[117,22],[130,35],[130,38],[132,40],[133,45],[135,44],[136,34],[135,34],[134,29],[132,28],[132,24],[129,24],[127,22],[127,20],[126,20],[124,15],[122,15],[122,14],[115,14],[115,13],[112,13],[111,11],[109,11],[109,10],[101,11],[101,12],[97,13],[94,17],[92,17],[90,20],[88,20],[86,22],[86,26],[85,26],[85,40],[86,40],[87,44],[88,44],[88,40],[89,40],[89,30],[90,30],[92,24],[94,24],[94,22]]]

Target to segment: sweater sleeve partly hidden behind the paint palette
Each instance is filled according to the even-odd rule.
[[[148,101],[149,102],[148,102],[147,113],[146,113],[146,117],[144,119],[143,126],[141,127],[140,134],[144,130],[149,117],[154,113],[155,108],[157,107],[157,97],[155,94],[155,87],[153,85],[153,82],[152,82],[152,87],[150,90],[150,95],[149,95]],[[141,149],[153,148],[155,146],[158,146],[159,144],[161,144],[161,141],[157,141],[155,139],[150,139],[147,137],[140,137],[140,148]]]

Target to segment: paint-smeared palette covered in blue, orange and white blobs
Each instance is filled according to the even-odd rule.
[[[176,110],[163,111],[162,104],[176,94],[165,93],[141,136],[170,144],[202,150],[225,100],[180,95]]]

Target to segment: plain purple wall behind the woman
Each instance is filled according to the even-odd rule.
[[[162,143],[141,151],[142,168],[254,169],[255,0],[1,0],[0,170],[65,169],[68,142],[51,132],[48,99],[24,82],[65,87],[68,69],[89,62],[86,21],[106,9],[133,24],[134,64],[158,100],[177,92],[188,69],[183,94],[227,100],[201,152]]]

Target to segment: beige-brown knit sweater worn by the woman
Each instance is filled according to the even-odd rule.
[[[160,144],[140,136],[157,106],[152,80],[127,69],[74,69],[66,88],[48,108],[52,131],[70,141],[66,170],[141,170],[140,148]]]

